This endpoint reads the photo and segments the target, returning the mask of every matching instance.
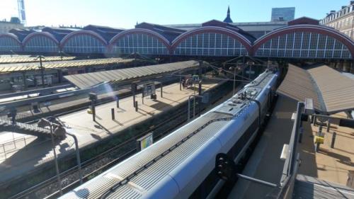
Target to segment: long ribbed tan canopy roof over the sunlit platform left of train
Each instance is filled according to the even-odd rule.
[[[154,74],[163,74],[180,69],[198,67],[198,61],[174,62],[170,64],[158,64],[147,67],[137,67],[129,69],[116,69],[104,72],[91,72],[86,74],[73,74],[64,76],[65,79],[72,82],[81,89],[86,89],[104,81],[122,81],[125,79],[134,79]]]

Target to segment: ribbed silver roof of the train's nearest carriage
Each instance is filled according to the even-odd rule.
[[[181,127],[181,129],[173,132],[169,136],[164,138],[164,142],[156,142],[149,150],[139,152],[139,154],[130,157],[129,161],[124,161],[121,166],[115,166],[115,168],[105,171],[103,176],[98,176],[93,181],[89,181],[86,184],[86,192],[76,194],[76,191],[70,192],[62,198],[100,198],[103,193],[108,191],[122,179],[130,176],[149,161],[166,152],[171,146],[181,142],[183,138],[190,135],[190,133],[198,130],[202,125],[205,125],[208,121],[218,118],[227,118],[219,113],[212,113],[213,115],[208,117],[202,117],[199,120],[193,120],[192,123]],[[141,198],[143,193],[149,191],[156,183],[159,183],[162,178],[169,175],[173,169],[181,164],[185,159],[190,157],[196,150],[202,147],[207,140],[215,135],[222,127],[230,123],[230,120],[217,121],[210,123],[199,133],[190,137],[190,139],[183,142],[183,144],[173,149],[169,154],[166,154],[160,161],[157,161],[152,166],[147,167],[139,173],[139,175],[130,179],[130,182],[124,186],[117,188],[108,198]]]

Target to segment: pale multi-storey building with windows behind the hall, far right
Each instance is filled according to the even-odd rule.
[[[321,25],[336,28],[354,40],[354,1],[350,1],[348,6],[342,6],[339,11],[330,11],[325,18],[320,21]]]

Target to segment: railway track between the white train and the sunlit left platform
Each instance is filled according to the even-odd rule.
[[[196,106],[196,108],[198,107]],[[132,154],[135,154],[137,152],[137,147],[136,147],[137,138],[146,135],[148,132],[151,132],[152,130],[154,130],[154,132],[160,132],[154,136],[154,140],[159,140],[162,137],[169,135],[169,133],[172,132],[173,129],[185,123],[186,114],[187,114],[187,110],[179,110],[178,113],[175,114],[175,116],[169,118],[169,120],[164,120],[163,122],[155,125],[153,129],[139,133],[139,135],[135,135],[135,137],[132,137],[129,140],[126,140],[125,142],[122,142],[116,145],[115,147],[108,149],[107,151],[99,154],[98,156],[82,162],[81,171],[84,172],[83,181],[84,182],[88,181],[90,178],[93,178],[94,176],[101,174],[101,172],[109,169],[110,166],[118,164],[120,161],[126,159],[127,157],[130,157]],[[101,166],[98,166],[99,167],[98,169],[89,169],[89,167],[92,165],[95,167],[96,166],[95,164],[99,163],[100,161],[101,161]],[[89,172],[85,172],[85,171],[89,171]],[[78,166],[74,166],[71,169],[68,169],[67,171],[60,173],[60,176],[62,178],[63,192],[69,191],[75,186],[79,185]],[[68,178],[69,180],[67,180]],[[51,193],[51,195],[47,195],[44,193],[45,191],[42,191],[45,188],[55,189],[55,192]],[[43,193],[37,195],[38,193],[41,192]],[[59,186],[57,185],[57,177],[53,176],[52,178],[49,178],[46,181],[43,181],[42,183],[39,183],[36,186],[33,186],[31,188],[28,188],[25,191],[22,191],[21,193],[17,193],[16,195],[11,196],[9,199],[45,198],[45,197],[55,198],[59,196],[58,194],[59,194]]]

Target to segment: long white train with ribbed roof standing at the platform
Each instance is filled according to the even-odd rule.
[[[232,98],[151,147],[75,188],[61,198],[212,198],[221,181],[215,157],[235,162],[244,155],[273,98],[278,72],[267,70]]]

